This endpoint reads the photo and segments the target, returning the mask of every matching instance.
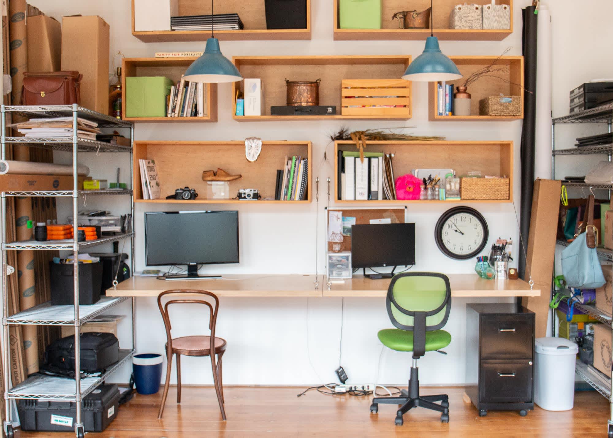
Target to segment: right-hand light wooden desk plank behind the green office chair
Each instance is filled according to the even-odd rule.
[[[448,274],[451,296],[454,297],[503,297],[540,296],[540,290],[530,290],[524,280],[484,280],[476,274]],[[371,280],[363,275],[351,280],[333,282],[328,290],[324,283],[323,296],[327,297],[384,297],[391,279]]]

